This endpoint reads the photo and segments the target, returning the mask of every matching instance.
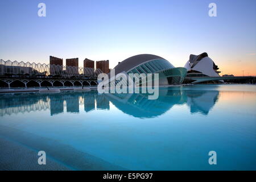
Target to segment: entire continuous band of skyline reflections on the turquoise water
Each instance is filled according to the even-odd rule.
[[[64,107],[67,107],[68,113],[79,113],[79,107],[82,105],[85,112],[96,108],[109,110],[110,101],[123,113],[138,118],[158,117],[174,105],[184,104],[190,107],[191,113],[207,115],[216,104],[218,95],[217,90],[191,87],[159,89],[159,97],[156,100],[148,100],[147,94],[98,94],[97,90],[58,94],[3,94],[0,96],[0,115],[47,109],[51,115],[55,115],[64,113]]]

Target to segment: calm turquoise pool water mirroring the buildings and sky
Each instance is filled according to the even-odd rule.
[[[77,170],[256,169],[255,85],[161,88],[158,100],[147,98],[1,94],[0,138]]]

